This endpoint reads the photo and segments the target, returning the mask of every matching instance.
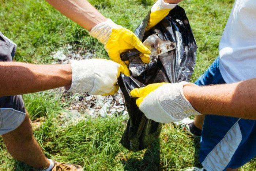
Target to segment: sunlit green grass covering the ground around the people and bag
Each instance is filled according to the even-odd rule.
[[[106,17],[134,30],[153,0],[90,0]],[[53,51],[67,44],[108,58],[103,46],[79,25],[42,0],[0,0],[0,31],[18,44],[17,61],[52,63]],[[186,0],[180,5],[189,18],[197,41],[195,81],[218,55],[218,44],[233,0]],[[57,117],[67,103],[54,91],[24,95],[31,120],[45,117],[34,135],[49,158],[77,163],[85,170],[180,170],[198,166],[199,140],[180,128],[166,124],[158,141],[140,152],[129,152],[119,144],[128,116],[96,118],[60,127]],[[255,170],[253,159],[242,169]],[[0,139],[0,170],[28,170],[16,162]]]

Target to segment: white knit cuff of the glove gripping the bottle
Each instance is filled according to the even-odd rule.
[[[106,45],[113,28],[122,28],[122,26],[117,25],[111,19],[107,19],[105,22],[95,25],[89,34]]]

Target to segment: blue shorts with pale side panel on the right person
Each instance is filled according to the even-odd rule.
[[[195,82],[197,85],[225,84],[217,58]],[[238,168],[256,156],[255,120],[206,115],[199,160],[207,171]]]

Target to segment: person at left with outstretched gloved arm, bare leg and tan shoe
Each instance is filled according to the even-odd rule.
[[[81,166],[47,159],[33,136],[29,114],[19,94],[65,86],[68,92],[109,95],[118,90],[124,67],[106,59],[70,60],[70,64],[13,62],[16,45],[0,32],[0,135],[16,160],[40,170],[81,171]]]

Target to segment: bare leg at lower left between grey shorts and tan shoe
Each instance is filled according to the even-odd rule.
[[[10,152],[14,159],[27,163],[37,169],[49,167],[49,161],[33,136],[27,112],[23,123],[14,131],[2,135],[2,137],[8,152]]]

